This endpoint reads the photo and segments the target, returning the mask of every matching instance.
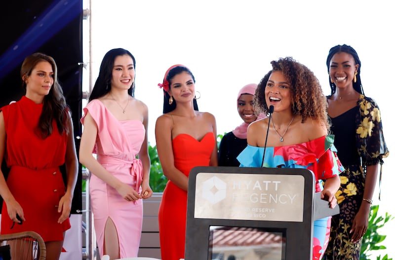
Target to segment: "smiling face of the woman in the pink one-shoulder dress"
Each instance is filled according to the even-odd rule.
[[[128,90],[134,81],[134,63],[129,55],[117,56],[111,78],[111,87]]]

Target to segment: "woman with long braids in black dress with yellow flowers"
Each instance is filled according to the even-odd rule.
[[[365,97],[361,63],[348,45],[330,49],[326,65],[331,96],[328,115],[338,157],[345,167],[336,193],[340,214],[332,217],[327,260],[358,260],[366,232],[379,164],[389,155],[377,103]],[[380,169],[381,177],[381,169]]]

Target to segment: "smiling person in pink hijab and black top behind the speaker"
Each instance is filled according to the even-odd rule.
[[[243,123],[222,137],[218,152],[218,166],[239,166],[237,156],[247,147],[247,128],[257,120],[254,97],[257,84],[248,84],[237,95],[237,112]]]

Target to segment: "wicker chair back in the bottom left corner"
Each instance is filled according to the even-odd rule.
[[[42,237],[34,231],[24,231],[0,235],[0,245],[10,245],[11,259],[38,260],[46,259],[46,248]],[[15,254],[18,254],[15,256]]]

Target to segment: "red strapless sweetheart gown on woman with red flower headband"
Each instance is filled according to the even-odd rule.
[[[216,145],[213,132],[198,141],[188,134],[173,139],[174,165],[186,176],[196,166],[209,166],[211,153]],[[171,181],[163,191],[158,212],[160,252],[162,260],[184,258],[185,227],[187,220],[187,192]]]

